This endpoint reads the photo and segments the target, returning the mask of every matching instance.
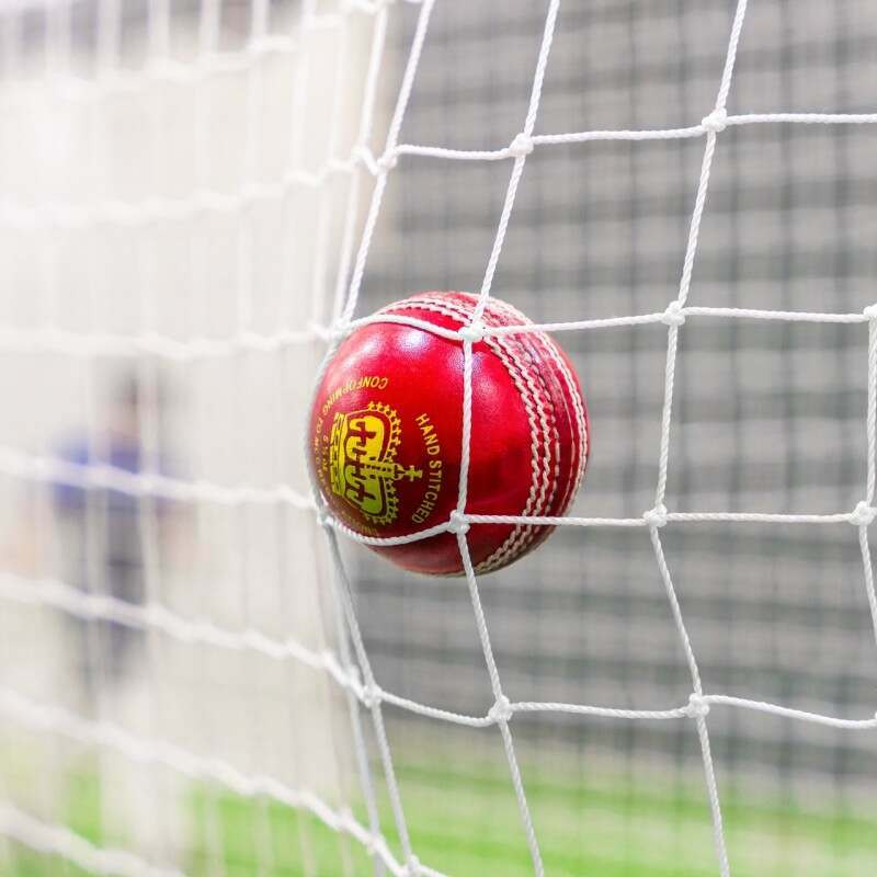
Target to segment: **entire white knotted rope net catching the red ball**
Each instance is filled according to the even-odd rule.
[[[464,399],[463,399],[463,435],[462,466],[458,486],[458,502],[455,512],[446,522],[405,537],[380,539],[364,537],[350,531],[333,519],[321,504],[303,494],[291,486],[257,488],[249,486],[228,487],[206,481],[185,481],[167,476],[151,474],[132,474],[105,465],[81,466],[61,459],[29,454],[19,448],[0,447],[0,472],[35,481],[38,483],[64,483],[83,490],[114,490],[137,498],[158,498],[183,502],[206,502],[224,505],[244,503],[285,503],[303,510],[316,510],[324,524],[327,538],[335,568],[337,607],[342,622],[339,654],[330,651],[309,649],[293,638],[276,639],[259,630],[244,628],[229,630],[204,618],[185,618],[167,606],[156,602],[146,605],[134,605],[100,594],[88,594],[80,589],[54,579],[27,580],[12,574],[0,576],[0,599],[19,604],[45,606],[78,618],[91,622],[112,622],[128,627],[152,631],[171,637],[180,642],[207,646],[231,651],[252,652],[266,659],[277,661],[295,661],[311,670],[324,673],[333,684],[341,688],[351,704],[354,744],[361,771],[368,808],[369,825],[365,828],[356,822],[349,812],[330,808],[318,797],[303,789],[292,789],[269,776],[251,776],[223,761],[201,758],[186,752],[171,743],[157,739],[140,738],[105,721],[92,721],[80,718],[69,711],[50,705],[42,705],[27,699],[11,690],[0,690],[0,713],[20,724],[36,730],[50,732],[73,739],[94,747],[105,747],[140,762],[162,765],[186,776],[218,783],[232,791],[248,797],[266,797],[287,806],[306,809],[321,820],[330,829],[343,832],[360,842],[374,856],[380,868],[394,875],[413,877],[436,875],[430,867],[422,865],[411,844],[401,791],[397,782],[392,755],[384,727],[383,707],[391,706],[411,714],[437,721],[470,728],[490,728],[497,726],[500,731],[506,754],[515,795],[521,810],[524,832],[527,839],[533,868],[536,875],[543,874],[542,856],[536,833],[526,801],[524,784],[510,730],[510,722],[519,714],[566,714],[571,716],[603,717],[615,720],[672,721],[693,719],[696,724],[702,748],[707,797],[710,805],[713,829],[719,869],[722,877],[729,877],[725,834],[721,822],[718,786],[709,748],[707,717],[711,708],[726,707],[752,710],[776,716],[789,721],[801,721],[845,730],[873,731],[877,729],[877,716],[866,718],[835,717],[818,711],[807,711],[777,704],[747,699],[728,694],[710,694],[704,691],[697,665],[695,648],[685,627],[684,616],[675,591],[671,570],[663,553],[660,531],[674,524],[695,523],[740,523],[740,524],[848,524],[857,528],[859,549],[863,560],[865,597],[869,607],[877,641],[877,594],[875,593],[874,571],[868,545],[868,528],[877,515],[875,509],[875,458],[877,441],[877,308],[868,308],[864,314],[844,312],[808,312],[788,310],[765,310],[754,308],[728,308],[692,306],[687,304],[697,255],[698,236],[707,203],[709,176],[718,137],[728,127],[764,124],[805,124],[805,125],[863,125],[877,123],[877,114],[827,114],[827,113],[764,113],[739,114],[727,113],[726,102],[731,87],[734,58],[742,31],[747,2],[740,0],[737,5],[728,43],[725,68],[718,88],[714,107],[699,121],[693,121],[685,127],[657,128],[645,130],[585,130],[558,134],[535,134],[539,99],[547,67],[548,55],[554,34],[558,2],[554,0],[549,7],[545,31],[531,91],[527,114],[521,133],[511,144],[492,150],[457,150],[438,146],[420,146],[398,144],[405,112],[411,95],[418,65],[426,38],[426,30],[432,11],[432,0],[422,3],[418,26],[411,44],[402,84],[395,106],[394,115],[387,129],[384,149],[375,155],[371,147],[372,127],[378,75],[381,68],[384,44],[387,29],[387,9],[390,0],[354,0],[342,4],[337,15],[304,14],[303,37],[309,29],[343,29],[352,13],[373,15],[375,31],[369,56],[368,72],[364,89],[363,111],[356,146],[345,158],[330,158],[316,171],[303,171],[296,162],[291,169],[270,183],[247,180],[234,193],[198,189],[176,198],[148,198],[139,202],[95,201],[84,203],[49,203],[37,207],[20,204],[11,200],[0,202],[0,227],[11,229],[45,231],[46,229],[82,228],[103,225],[116,226],[152,226],[169,223],[181,217],[196,216],[203,213],[243,215],[257,203],[283,201],[296,186],[323,187],[333,176],[350,174],[351,187],[345,209],[345,226],[342,247],[339,255],[339,276],[334,311],[330,326],[316,322],[320,315],[312,315],[315,322],[295,330],[284,329],[273,334],[260,334],[252,331],[248,320],[241,320],[238,332],[228,338],[190,338],[175,340],[159,333],[145,331],[136,335],[119,335],[98,332],[75,333],[48,327],[37,330],[0,330],[0,351],[16,353],[56,353],[72,357],[140,357],[150,356],[158,360],[175,362],[197,361],[214,357],[234,357],[243,352],[276,353],[293,345],[330,341],[331,353],[344,334],[354,328],[373,322],[395,322],[419,327],[446,338],[460,341],[464,351]],[[205,46],[215,46],[215,34],[210,36],[216,22],[205,18],[203,35]],[[106,31],[109,25],[101,27]],[[64,31],[64,29],[61,29]],[[84,80],[70,75],[65,62],[64,46],[59,44],[53,60],[52,89],[58,100],[64,101],[101,101],[113,95],[137,93],[151,89],[159,83],[189,84],[200,82],[215,76],[229,72],[253,72],[259,75],[262,60],[271,55],[295,54],[300,49],[298,37],[267,35],[263,29],[253,29],[252,38],[242,52],[224,55],[218,52],[203,52],[198,60],[191,65],[171,62],[159,59],[160,53],[144,69],[127,72],[121,70],[114,59],[117,47],[113,43],[102,46],[103,62],[99,65],[99,75],[94,79]],[[0,96],[0,103],[19,105],[30,100],[31,91],[25,87],[10,90]],[[516,192],[523,175],[527,157],[534,149],[553,145],[586,144],[601,140],[639,141],[639,140],[674,140],[705,138],[705,150],[701,166],[701,174],[688,237],[681,267],[676,298],[660,311],[631,316],[612,316],[599,319],[584,319],[567,322],[553,322],[528,326],[485,327],[480,322],[483,309],[488,304],[493,277],[503,243],[511,221]],[[250,149],[250,157],[254,149]],[[331,153],[330,153],[331,155]],[[513,162],[505,200],[501,210],[497,232],[486,265],[485,275],[478,298],[478,305],[470,326],[460,330],[447,330],[434,327],[411,317],[397,315],[378,315],[358,320],[353,319],[360,288],[374,230],[381,208],[388,176],[402,157],[430,158],[455,161],[500,161]],[[375,185],[366,215],[364,228],[358,241],[355,235],[355,217],[360,198],[360,178],[367,172],[374,176]],[[324,251],[328,234],[318,236]],[[323,264],[321,271],[326,270]],[[320,276],[322,276],[320,274]],[[315,289],[324,285],[315,278]],[[670,460],[670,440],[672,425],[672,407],[674,374],[676,364],[677,339],[681,327],[690,318],[716,320],[763,320],[809,323],[844,323],[868,324],[867,358],[867,412],[866,412],[866,466],[864,496],[851,511],[831,514],[779,514],[772,512],[713,512],[713,511],[668,511],[667,482]],[[474,515],[466,513],[469,445],[471,441],[471,405],[472,405],[472,344],[482,337],[500,337],[535,331],[595,331],[618,327],[661,323],[668,327],[668,345],[664,373],[664,403],[661,418],[659,475],[653,508],[646,510],[638,517],[554,517],[524,515]],[[324,364],[323,364],[324,368]],[[656,561],[670,604],[671,615],[679,635],[692,679],[692,693],[686,704],[671,706],[667,709],[631,709],[615,708],[589,704],[514,702],[504,693],[500,671],[492,651],[489,626],[481,605],[478,582],[474,573],[466,539],[470,526],[479,524],[531,524],[546,526],[581,526],[581,527],[643,527],[649,532]],[[368,654],[358,628],[349,582],[341,563],[335,534],[366,545],[401,545],[430,538],[441,533],[456,534],[463,559],[464,570],[469,586],[470,600],[476,627],[481,645],[492,704],[483,715],[465,715],[451,710],[420,704],[391,692],[385,691],[376,680]],[[348,640],[349,637],[349,640]],[[356,664],[354,665],[354,659]],[[358,669],[357,669],[358,668]],[[375,805],[374,783],[368,768],[363,730],[360,721],[358,705],[366,708],[377,741],[380,763],[387,785],[396,829],[400,839],[403,861],[398,861],[391,853],[386,839],[379,832],[379,822]],[[98,848],[84,839],[69,832],[60,825],[47,825],[33,817],[12,807],[0,807],[0,833],[14,838],[22,843],[54,853],[66,861],[96,874],[121,874],[124,877],[178,877],[179,873],[162,870],[136,856],[123,851]]]

